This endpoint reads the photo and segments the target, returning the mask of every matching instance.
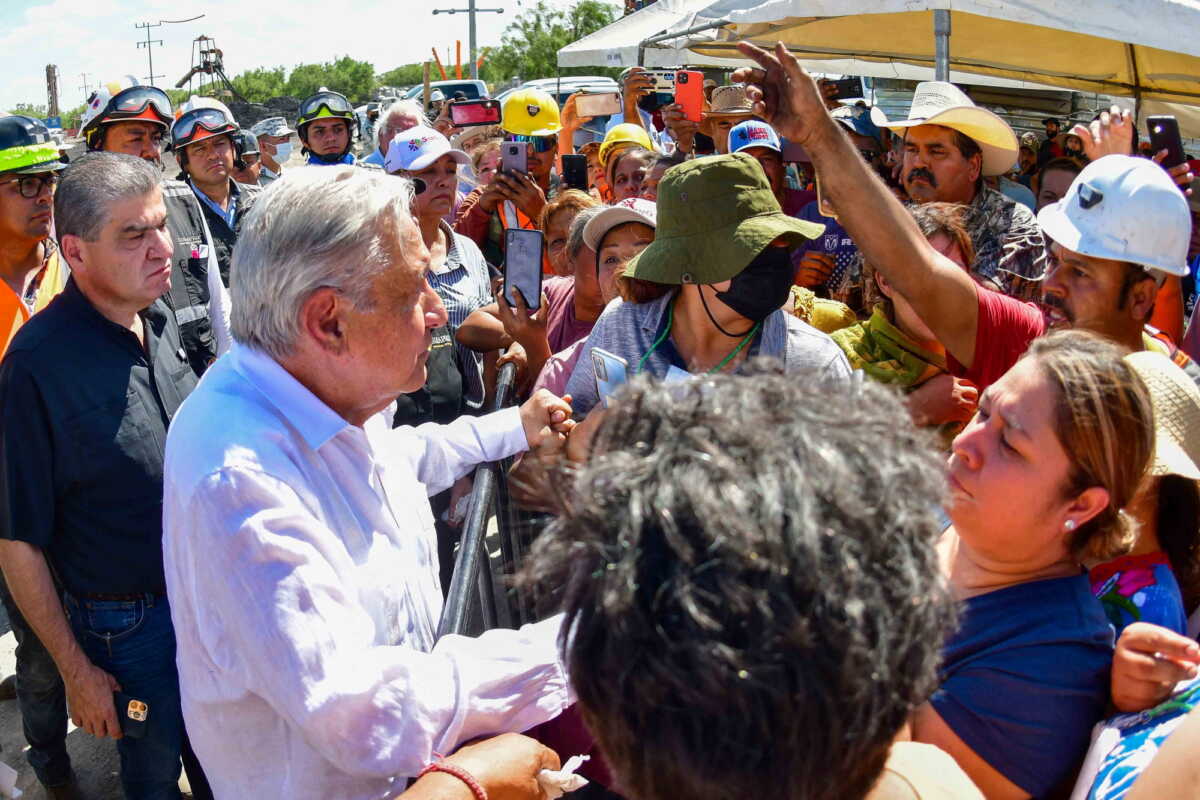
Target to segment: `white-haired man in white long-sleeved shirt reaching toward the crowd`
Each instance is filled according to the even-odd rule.
[[[302,168],[232,266],[235,344],[167,440],[163,561],[182,706],[217,798],[394,796],[436,753],[569,703],[559,619],[436,639],[427,497],[560,437],[566,402],[391,429],[445,311],[412,182]]]

